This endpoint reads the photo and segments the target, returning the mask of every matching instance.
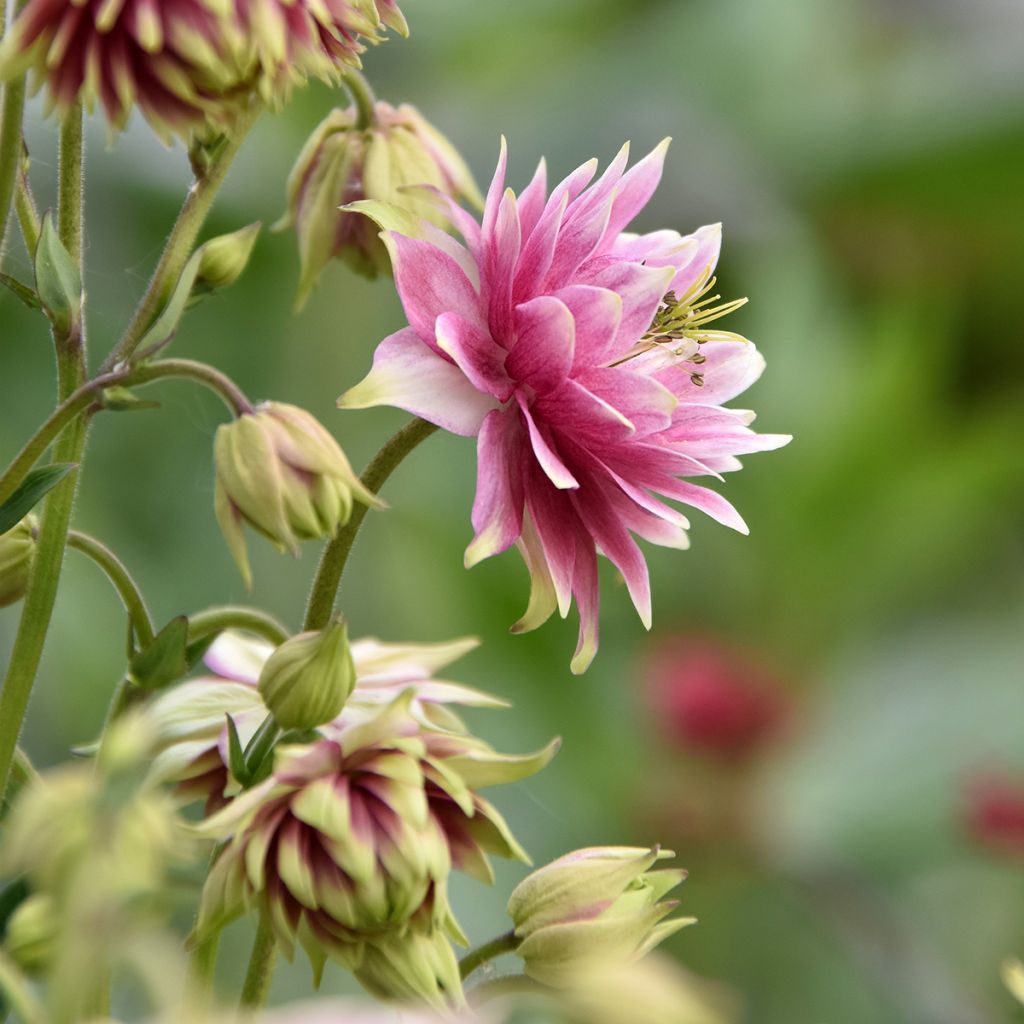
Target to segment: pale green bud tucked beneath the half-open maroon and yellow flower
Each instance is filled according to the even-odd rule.
[[[385,932],[366,943],[352,974],[379,999],[426,1002],[438,1009],[465,1005],[459,962],[440,931]]]

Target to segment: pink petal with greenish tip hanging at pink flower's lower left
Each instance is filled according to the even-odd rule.
[[[476,536],[466,549],[466,568],[505,551],[522,534],[525,458],[518,411],[488,413],[476,442]]]

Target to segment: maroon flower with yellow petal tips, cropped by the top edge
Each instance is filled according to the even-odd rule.
[[[366,43],[408,28],[394,0],[30,0],[0,48],[0,78],[26,70],[50,106],[134,106],[168,138],[230,131],[253,92],[279,100],[309,76],[337,83]]]

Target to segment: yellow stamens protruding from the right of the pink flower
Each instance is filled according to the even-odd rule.
[[[699,366],[706,361],[700,346],[707,342],[746,341],[742,335],[732,331],[708,329],[709,324],[746,304],[745,298],[722,302],[721,295],[711,294],[716,281],[711,276],[709,268],[682,297],[675,292],[666,292],[647,333],[612,366],[621,366],[654,351],[666,362],[691,362]],[[690,374],[690,380],[696,387],[701,387],[703,374],[694,371]]]

